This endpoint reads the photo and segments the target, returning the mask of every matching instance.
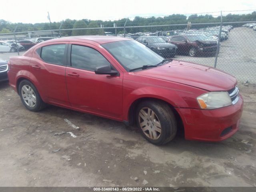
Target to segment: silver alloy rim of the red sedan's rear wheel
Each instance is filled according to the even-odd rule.
[[[29,85],[22,86],[21,95],[26,105],[30,107],[34,107],[36,105],[36,94]]]

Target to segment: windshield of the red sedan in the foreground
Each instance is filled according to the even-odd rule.
[[[102,47],[110,52],[127,71],[144,65],[157,65],[164,60],[150,48],[135,40],[106,43],[102,44]]]

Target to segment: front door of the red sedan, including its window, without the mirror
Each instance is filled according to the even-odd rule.
[[[122,118],[122,72],[116,76],[95,74],[98,66],[109,65],[113,61],[106,51],[85,43],[70,42],[66,83],[72,107],[86,112]]]

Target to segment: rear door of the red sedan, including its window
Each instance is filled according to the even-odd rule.
[[[65,78],[67,50],[67,42],[46,44],[33,52],[30,61],[40,95],[47,102],[64,106],[70,106]]]

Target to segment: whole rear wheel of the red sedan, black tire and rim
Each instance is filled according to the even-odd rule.
[[[19,95],[24,106],[30,111],[40,111],[46,107],[38,90],[29,80],[22,80],[19,84]]]

